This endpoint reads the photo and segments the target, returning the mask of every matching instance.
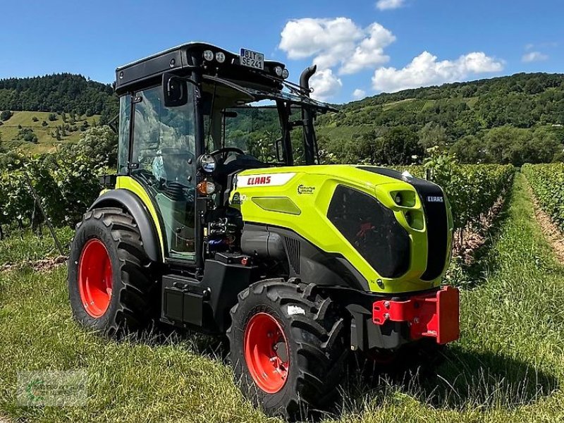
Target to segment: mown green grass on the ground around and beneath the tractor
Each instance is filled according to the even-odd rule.
[[[431,378],[350,376],[333,422],[564,420],[564,267],[533,219],[524,178],[462,292],[460,341]],[[0,247],[2,248],[2,247]],[[30,422],[275,422],[241,396],[209,338],[116,343],[75,325],[64,268],[0,273],[0,415]],[[85,369],[85,407],[22,407],[16,372]]]

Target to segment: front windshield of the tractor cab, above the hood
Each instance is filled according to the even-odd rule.
[[[301,107],[331,109],[293,92],[264,92],[220,78],[204,78],[202,88],[206,152],[231,147],[270,165],[305,164]]]

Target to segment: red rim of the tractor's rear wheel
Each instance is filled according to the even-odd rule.
[[[90,316],[102,317],[110,305],[112,287],[111,262],[101,240],[88,240],[78,262],[80,300]]]

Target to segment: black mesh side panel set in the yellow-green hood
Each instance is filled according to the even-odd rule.
[[[409,269],[409,235],[376,198],[338,185],[327,218],[384,278],[398,278]]]

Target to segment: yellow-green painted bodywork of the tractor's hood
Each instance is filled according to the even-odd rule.
[[[240,175],[288,172],[295,173],[295,176],[284,185],[251,185],[233,190],[231,200],[233,196],[238,195],[237,202],[240,203],[233,204],[233,206],[240,208],[244,221],[288,228],[325,252],[343,255],[369,281],[369,287],[374,292],[402,293],[439,285],[441,278],[436,278],[431,282],[421,279],[427,267],[427,226],[423,219],[423,205],[412,185],[348,165],[253,169],[243,171]],[[384,278],[379,275],[327,219],[329,203],[337,185],[346,185],[376,197],[381,204],[394,212],[396,219],[405,228],[411,240],[411,263],[405,275],[400,278]],[[393,199],[398,192],[402,192],[410,199],[406,203],[410,207],[396,204]],[[296,209],[300,210],[300,213],[281,212],[279,207],[271,209],[262,207],[260,197],[287,198]],[[412,226],[407,223],[406,212],[412,212],[415,216]],[[448,214],[448,225],[449,228],[452,228],[450,209]],[[449,239],[449,247],[450,242]],[[381,281],[380,285],[384,288],[379,286],[378,280]]]

